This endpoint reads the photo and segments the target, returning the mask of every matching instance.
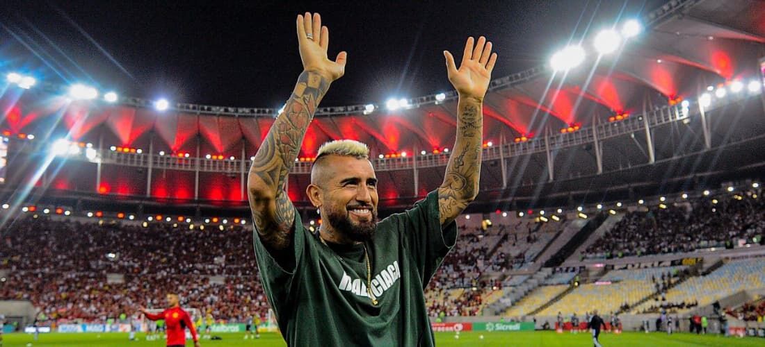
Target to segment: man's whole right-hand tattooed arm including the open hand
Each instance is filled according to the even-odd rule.
[[[483,97],[496,63],[491,43],[480,37],[474,47],[467,39],[460,68],[451,53],[444,51],[449,81],[457,89],[457,138],[446,165],[444,183],[438,187],[441,225],[451,223],[476,198],[483,144]]]

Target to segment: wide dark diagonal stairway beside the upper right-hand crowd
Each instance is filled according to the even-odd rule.
[[[566,227],[565,236],[559,237],[545,256],[539,259],[539,262],[544,264],[545,268],[560,266],[581,243],[584,243],[598,227],[601,227],[606,216],[607,214],[601,213],[588,220],[572,220]]]

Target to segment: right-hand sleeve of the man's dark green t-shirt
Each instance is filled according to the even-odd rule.
[[[399,233],[408,245],[407,251],[415,259],[422,276],[423,289],[435,274],[444,256],[457,242],[457,223],[452,221],[441,227],[438,212],[438,191],[431,191],[410,210],[395,214]]]

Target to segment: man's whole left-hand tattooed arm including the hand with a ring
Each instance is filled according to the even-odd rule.
[[[298,15],[297,29],[304,70],[285,111],[278,115],[258,149],[247,177],[257,233],[265,246],[275,250],[290,245],[295,227],[295,207],[284,190],[287,175],[295,165],[317,105],[330,84],[345,73],[347,57],[347,53],[340,52],[334,62],[327,59],[329,31],[321,26],[319,14]]]

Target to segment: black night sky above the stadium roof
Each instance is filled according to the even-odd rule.
[[[459,60],[469,35],[493,41],[497,78],[662,3],[5,0],[0,72],[141,98],[278,108],[302,69],[295,17],[317,11],[330,30],[330,58],[348,52],[346,76],[322,105],[384,103],[451,90],[441,52]]]

